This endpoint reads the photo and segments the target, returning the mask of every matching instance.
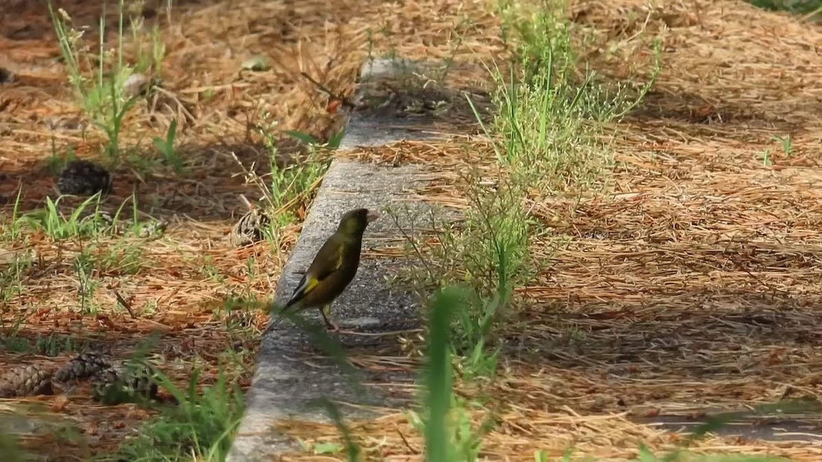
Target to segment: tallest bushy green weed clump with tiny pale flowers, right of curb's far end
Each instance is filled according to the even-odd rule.
[[[516,44],[508,75],[493,71],[500,87],[493,127],[501,138],[497,159],[511,169],[512,182],[542,192],[575,192],[600,182],[612,159],[598,135],[640,103],[661,70],[662,44],[655,40],[651,75],[637,94],[626,85],[600,82],[587,68],[580,81],[563,5],[500,7],[506,35]]]

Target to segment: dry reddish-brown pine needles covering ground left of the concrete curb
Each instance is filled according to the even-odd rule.
[[[340,114],[327,110],[328,97],[300,72],[345,95],[353,90],[369,53],[455,58],[472,65],[498,53],[501,45],[496,20],[479,4],[455,8],[453,2],[442,1],[403,7],[385,2],[175,3],[169,23],[165,2],[146,2],[145,11],[150,12],[146,21],[159,23],[168,53],[162,73],[168,94],[141,101],[127,117],[121,140],[126,162],[115,169],[114,192],[102,206],[116,210],[135,192],[141,215],[168,219],[169,229],[164,238],[154,241],[53,242],[43,233],[27,233],[25,243],[2,243],[3,270],[10,269],[9,252],[27,249],[34,261],[20,275],[23,292],[0,306],[2,332],[11,334],[12,323],[20,322],[16,339],[30,345],[38,336],[71,336],[78,348],[102,349],[115,358],[127,358],[145,335],[159,331],[161,340],[151,353],[173,381],[187,386],[192,367],[200,366],[205,367],[200,385],[213,383],[222,362],[245,389],[257,329],[267,316],[231,314],[224,303],[233,298],[267,298],[299,231],[298,224],[281,229],[280,248],[263,243],[238,249],[225,239],[234,220],[246,211],[238,195],[261,196],[238,175],[241,169],[231,155],[236,152],[246,167],[252,162],[268,163],[261,139],[250,133],[259,123],[257,111],[270,113],[279,129],[325,140],[339,128]],[[69,12],[76,25],[90,26],[86,38],[93,44],[99,7],[77,1],[58,2],[58,7]],[[37,2],[4,2],[3,8],[0,66],[13,72],[15,80],[0,84],[0,214],[10,217],[20,188],[21,214],[44,206],[45,197],[54,195],[48,172],[53,147],[58,156],[72,148],[76,156],[93,159],[105,140],[94,129],[80,129],[89,122],[76,104],[65,68],[57,61],[60,53],[46,7]],[[116,30],[112,10],[109,6],[107,30]],[[107,39],[113,43],[116,37]],[[271,69],[241,72],[241,63],[256,55],[266,56]],[[192,167],[187,177],[156,163],[144,168],[145,159],[159,157],[151,138],[164,136],[172,118],[179,124],[178,150]],[[289,143],[284,141],[283,146],[288,154]],[[293,211],[302,219],[308,206],[305,200]],[[130,215],[130,202],[125,210]],[[90,246],[102,258],[118,245],[139,247],[139,269],[132,273],[115,264],[95,270],[92,279],[99,289],[90,304],[97,312],[82,313],[80,280],[72,262]],[[133,316],[118,306],[114,291],[127,299]],[[228,352],[226,345],[230,345]],[[232,350],[237,358],[228,358]],[[68,356],[2,351],[0,367],[53,363]],[[26,401],[71,418],[70,426],[81,430],[79,437],[24,441],[50,460],[87,460],[111,453],[151,413],[128,404],[95,404],[82,387],[67,400],[38,396],[10,404]]]

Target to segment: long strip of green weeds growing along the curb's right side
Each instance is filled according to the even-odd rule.
[[[635,95],[626,85],[613,90],[590,71],[580,81],[560,5],[503,2],[500,12],[516,61],[507,75],[489,69],[499,85],[491,125],[469,99],[492,141],[496,165],[464,175],[469,208],[458,225],[438,233],[435,264],[423,270],[426,286],[467,284],[478,294],[463,303],[451,335],[464,378],[492,375],[501,348],[492,326],[510,313],[513,289],[545,264],[530,257],[531,240],[546,231],[527,204],[604,186],[612,157],[600,135],[639,103],[660,70],[656,41],[653,71]],[[559,247],[566,240],[554,242]]]

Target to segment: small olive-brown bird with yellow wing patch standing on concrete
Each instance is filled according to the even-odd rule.
[[[337,231],[320,247],[291,299],[279,311],[278,319],[271,322],[263,334],[277,326],[283,315],[311,307],[320,309],[327,329],[339,331],[339,326],[330,320],[331,303],[357,275],[363,233],[377,217],[376,212],[368,209],[349,210],[343,215]]]

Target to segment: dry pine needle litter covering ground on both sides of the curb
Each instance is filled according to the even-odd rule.
[[[97,12],[83,3],[60,5],[75,21],[92,25]],[[239,361],[229,361],[229,368],[247,386],[256,348],[253,326],[261,327],[266,316],[256,316],[252,326],[229,328],[220,308],[228,298],[265,298],[298,233],[297,224],[284,229],[280,249],[236,249],[224,240],[245,211],[238,194],[260,196],[234,176],[240,169],[229,154],[238,151],[247,167],[267,162],[258,146],[253,149],[259,140],[246,140],[249,124],[259,122],[256,109],[266,109],[281,128],[322,138],[330,134],[334,116],[326,111],[327,97],[300,71],[347,93],[369,49],[410,58],[455,56],[469,64],[501,53],[496,21],[481,2],[289,3],[181,2],[171,25],[164,10],[156,9],[168,49],[164,85],[174,98],[153,112],[141,104],[128,118],[122,144],[139,146],[133,155],[156,157],[148,140],[162,136],[169,119],[183,114],[178,140],[193,174],[178,178],[167,167],[124,164],[108,203],[116,208],[136,189],[142,211],[170,219],[168,232],[150,242],[126,239],[122,248],[140,248],[139,269],[95,270],[98,312],[82,315],[73,262],[89,243],[53,243],[38,233],[26,243],[4,241],[3,271],[7,252],[25,247],[34,256],[21,274],[22,292],[0,305],[5,338],[21,322],[14,335],[30,344],[38,335],[72,335],[124,358],[148,332],[160,330],[155,359],[181,384],[193,365],[205,366],[203,383],[214,381],[217,363],[227,356],[225,345],[231,344]],[[640,441],[654,450],[674,441],[630,423],[626,412],[683,413],[706,405],[770,402],[787,391],[810,397],[818,392],[822,208],[813,169],[822,138],[816,85],[822,77],[822,27],[743,2],[666,2],[650,16],[644,4],[574,3],[574,21],[597,32],[601,46],[591,47],[589,58],[601,72],[620,77],[630,65],[647,66],[649,38],[662,35],[663,74],[653,95],[618,127],[615,195],[578,205],[557,198],[535,207],[547,227],[574,240],[520,291],[531,309],[512,328],[510,344],[530,355],[512,354],[517,359],[506,364],[502,380],[482,390],[504,398],[501,425],[484,441],[488,460],[533,460],[537,449],[556,458],[571,446],[601,460],[626,460]],[[46,11],[15,8],[16,16],[0,24],[0,59],[6,60],[0,66],[16,74],[14,83],[0,84],[0,197],[7,200],[0,206],[6,216],[19,187],[21,213],[43,206],[52,194],[46,167],[52,146],[58,155],[73,146],[87,157],[102,144],[94,132],[84,139],[66,124],[48,127],[81,114],[62,65],[53,61],[58,49]],[[241,63],[256,54],[266,55],[272,69],[240,72]],[[793,136],[790,155],[771,139],[787,135]],[[351,155],[437,170],[459,166],[469,155],[490,161],[491,153],[457,139]],[[456,185],[420,194],[464,206]],[[296,207],[298,216],[306,206]],[[94,243],[95,252],[130,252],[115,247],[118,242],[123,239]],[[533,252],[546,252],[545,243],[534,243]],[[118,307],[113,290],[137,316]],[[0,367],[53,361],[40,354],[0,349]],[[413,361],[361,363],[404,367]],[[109,451],[149,416],[132,405],[93,404],[82,393],[12,404],[21,401],[46,404],[81,428],[73,445],[32,441],[52,460],[85,460]],[[337,436],[333,427],[292,430],[307,441]],[[375,457],[421,459],[418,434],[402,416],[369,423],[362,435]],[[698,446],[792,460],[819,460],[822,453],[822,446],[807,442],[710,438]]]

